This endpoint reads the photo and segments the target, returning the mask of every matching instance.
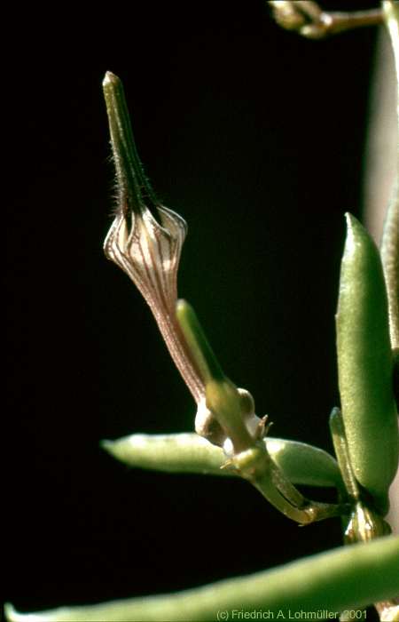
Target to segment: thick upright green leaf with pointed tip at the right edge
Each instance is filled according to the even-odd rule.
[[[386,512],[398,463],[387,291],[372,238],[350,214],[347,224],[336,315],[341,410],[356,479]]]

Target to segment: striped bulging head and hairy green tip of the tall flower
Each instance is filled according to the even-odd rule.
[[[121,80],[107,71],[103,88],[118,189],[118,209],[104,250],[136,283],[158,321],[160,315],[175,314],[177,268],[187,225],[160,204],[145,177]]]

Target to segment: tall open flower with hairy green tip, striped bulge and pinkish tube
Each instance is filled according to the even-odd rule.
[[[199,364],[201,356],[196,355],[195,344],[186,339],[176,315],[177,270],[186,223],[159,202],[145,177],[120,79],[107,72],[103,87],[118,191],[116,215],[104,245],[106,257],[129,275],[151,308],[169,353],[197,403],[196,432],[211,443],[223,445],[229,434],[208,408],[206,366]],[[245,401],[247,392],[238,391],[237,399]],[[241,410],[239,406],[239,413]],[[244,409],[243,421],[237,422],[247,440],[246,420],[254,417],[254,412],[249,416]]]

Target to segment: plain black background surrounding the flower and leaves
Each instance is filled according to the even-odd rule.
[[[273,435],[331,451],[343,213],[361,209],[376,30],[309,42],[261,0],[64,7],[4,26],[6,600],[151,594],[338,546],[338,521],[300,529],[245,482],[129,470],[99,449],[191,431],[195,414],[144,301],[103,255],[101,82],[121,76],[145,170],[189,224],[179,293],[224,370]]]

